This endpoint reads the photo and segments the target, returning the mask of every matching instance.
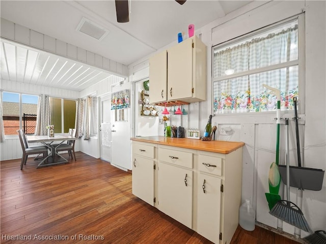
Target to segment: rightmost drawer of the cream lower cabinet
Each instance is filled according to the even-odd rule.
[[[222,159],[207,155],[198,155],[198,169],[202,172],[222,176]]]

